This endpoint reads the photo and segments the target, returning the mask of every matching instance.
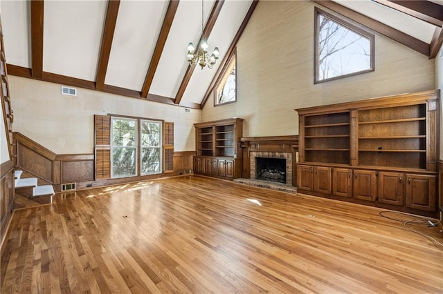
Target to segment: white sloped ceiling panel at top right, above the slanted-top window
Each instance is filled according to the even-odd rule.
[[[426,23],[426,21],[410,17],[406,13],[399,12],[371,0],[334,0],[334,2],[356,12],[360,12],[361,14],[380,21],[381,23],[385,23],[401,32],[405,32],[407,35],[415,37],[425,43],[431,43],[435,26]]]

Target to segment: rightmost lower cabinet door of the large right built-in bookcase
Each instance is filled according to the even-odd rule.
[[[406,206],[435,210],[435,176],[406,174]]]

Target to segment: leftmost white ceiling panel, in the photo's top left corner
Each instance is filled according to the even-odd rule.
[[[6,61],[30,68],[29,1],[1,1],[1,24]]]

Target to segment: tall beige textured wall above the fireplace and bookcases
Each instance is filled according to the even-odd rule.
[[[435,62],[382,35],[375,71],[314,85],[314,3],[260,1],[237,44],[237,102],[202,119],[242,117],[244,136],[297,135],[294,108],[435,88]]]

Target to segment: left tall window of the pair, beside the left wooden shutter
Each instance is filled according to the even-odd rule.
[[[137,120],[111,119],[111,177],[137,174]]]

